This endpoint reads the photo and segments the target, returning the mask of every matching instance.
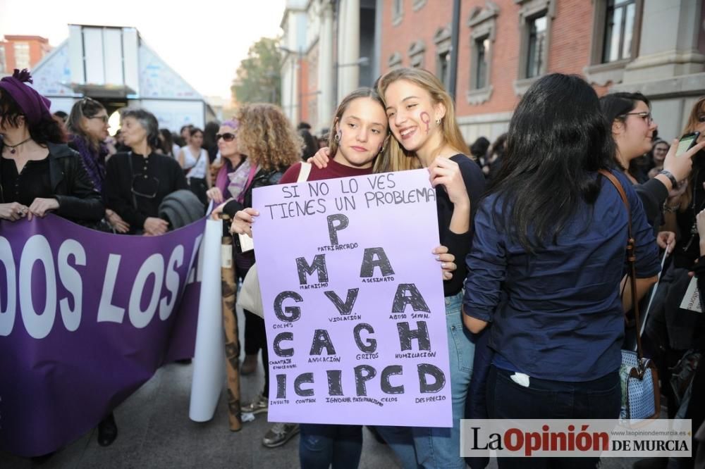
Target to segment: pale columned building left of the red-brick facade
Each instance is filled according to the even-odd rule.
[[[281,20],[282,108],[314,132],[329,127],[336,104],[379,76],[376,0],[288,0]]]

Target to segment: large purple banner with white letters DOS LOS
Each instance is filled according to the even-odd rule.
[[[0,450],[59,449],[192,356],[204,223],[128,237],[0,221]]]

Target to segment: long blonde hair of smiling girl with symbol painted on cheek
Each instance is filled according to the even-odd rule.
[[[398,80],[406,80],[414,85],[422,87],[431,95],[431,101],[434,104],[443,104],[446,108],[446,115],[441,119],[441,145],[434,152],[440,152],[443,146],[450,146],[458,153],[470,156],[470,149],[467,148],[465,139],[460,133],[458,123],[455,122],[455,106],[453,99],[443,87],[441,80],[436,75],[422,68],[395,68],[382,75],[377,82],[377,92],[384,99],[384,93],[389,85]],[[383,171],[400,171],[407,169],[421,168],[421,162],[416,154],[412,151],[406,151],[404,147],[396,140],[391,139],[389,151],[384,155],[385,158],[377,158],[375,169],[379,166]]]

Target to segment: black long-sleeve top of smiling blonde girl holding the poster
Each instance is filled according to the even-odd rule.
[[[454,233],[450,231],[450,219],[453,218],[453,203],[448,198],[446,189],[443,186],[436,187],[436,205],[439,211],[439,235],[441,244],[448,247],[448,252],[455,256],[455,264],[458,270],[453,272],[453,278],[443,282],[443,294],[452,296],[462,289],[467,276],[467,266],[465,256],[470,252],[472,244],[472,219],[477,204],[484,192],[485,178],[482,170],[470,158],[463,154],[450,157],[451,161],[458,163],[462,180],[465,182],[465,189],[470,198],[470,229],[465,233]]]

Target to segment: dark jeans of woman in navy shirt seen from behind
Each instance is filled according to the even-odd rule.
[[[581,420],[619,418],[622,388],[615,370],[596,380],[565,382],[529,377],[529,387],[514,372],[492,365],[487,377],[489,418]],[[504,468],[595,468],[600,458],[498,458]]]

